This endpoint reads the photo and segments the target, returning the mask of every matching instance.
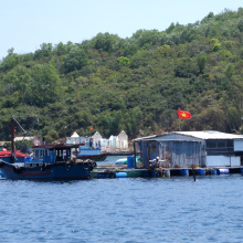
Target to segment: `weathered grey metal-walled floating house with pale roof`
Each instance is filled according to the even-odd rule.
[[[163,168],[243,166],[243,136],[214,130],[173,131],[134,140],[145,168],[159,157]]]

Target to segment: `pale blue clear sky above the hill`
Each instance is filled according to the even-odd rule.
[[[34,53],[42,43],[82,43],[105,32],[125,39],[239,8],[242,0],[0,0],[0,61],[12,47]]]

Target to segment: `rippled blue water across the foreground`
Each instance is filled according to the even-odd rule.
[[[242,242],[242,188],[241,175],[2,179],[0,242]]]

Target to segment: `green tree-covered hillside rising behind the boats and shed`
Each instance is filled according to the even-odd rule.
[[[91,135],[92,126],[129,139],[179,129],[243,134],[243,8],[127,39],[98,33],[34,53],[10,49],[0,87],[0,140],[9,140],[11,116],[46,141],[64,137],[65,126],[67,136]],[[179,120],[178,109],[191,119]]]

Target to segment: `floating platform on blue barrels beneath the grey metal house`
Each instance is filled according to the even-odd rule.
[[[129,168],[126,165],[104,163],[98,165],[91,171],[91,178],[136,178],[136,177],[173,177],[193,176],[201,177],[208,175],[243,175],[243,167],[221,167],[221,168]]]

